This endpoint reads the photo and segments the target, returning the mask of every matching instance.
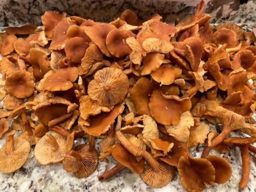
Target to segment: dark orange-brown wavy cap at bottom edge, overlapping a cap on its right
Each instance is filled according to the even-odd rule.
[[[188,191],[202,191],[214,183],[215,169],[207,159],[181,156],[177,169],[181,183]]]

